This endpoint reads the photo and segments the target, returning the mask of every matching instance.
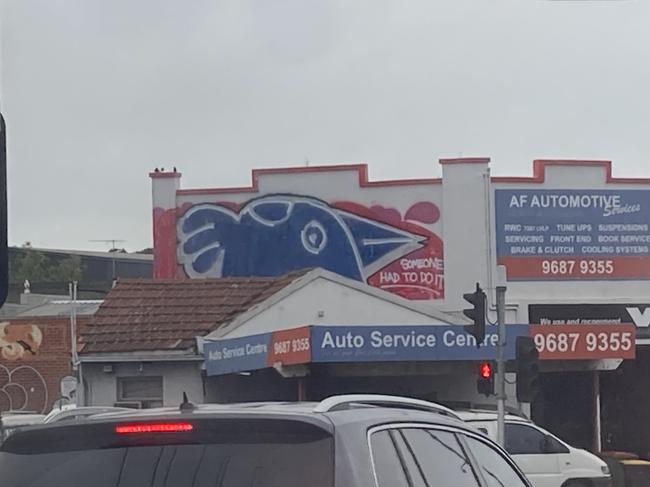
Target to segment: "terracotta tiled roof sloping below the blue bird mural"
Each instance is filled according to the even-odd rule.
[[[308,271],[281,277],[125,279],[87,325],[82,353],[187,350]]]

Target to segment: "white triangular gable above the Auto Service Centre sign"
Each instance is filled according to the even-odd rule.
[[[322,312],[322,316],[319,313]],[[302,289],[251,317],[237,328],[224,328],[211,338],[266,333],[303,325],[424,325],[446,324],[431,316],[394,302],[366,294],[325,278]]]

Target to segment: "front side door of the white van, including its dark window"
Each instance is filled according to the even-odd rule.
[[[560,455],[549,453],[547,434],[534,425],[506,422],[505,449],[534,487],[557,487],[562,483]]]

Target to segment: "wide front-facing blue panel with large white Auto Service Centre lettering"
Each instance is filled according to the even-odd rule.
[[[505,358],[515,358],[515,338],[528,325],[508,325]],[[312,326],[312,362],[388,362],[496,359],[497,328],[488,326],[476,347],[462,326]]]

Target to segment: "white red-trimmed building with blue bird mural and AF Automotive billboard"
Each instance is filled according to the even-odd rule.
[[[507,322],[531,325],[543,359],[534,419],[580,446],[641,451],[621,391],[650,389],[650,178],[616,178],[608,161],[535,161],[510,178],[487,158],[440,164],[441,179],[372,181],[343,165],[257,170],[250,187],[221,189],[152,173],[155,276],[320,267],[460,323],[476,283],[496,318],[503,265]]]

